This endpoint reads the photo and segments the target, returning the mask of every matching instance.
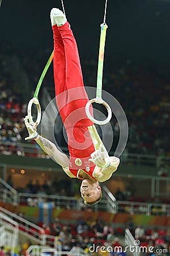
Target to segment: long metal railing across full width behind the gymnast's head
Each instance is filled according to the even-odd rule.
[[[165,178],[162,178],[165,179]],[[53,203],[55,208],[82,210],[86,207],[82,198],[73,196],[43,195],[33,193],[18,193],[14,188],[0,178],[0,196],[3,203],[14,205],[29,205],[35,207],[39,203]],[[103,199],[91,208],[97,211],[111,213],[129,213],[170,216],[170,204],[142,203],[133,201],[117,201],[106,186],[103,186]]]

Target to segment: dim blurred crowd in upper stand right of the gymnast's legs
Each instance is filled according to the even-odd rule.
[[[126,150],[137,154],[169,155],[170,77],[168,69],[112,65],[105,61],[103,89],[121,104],[129,124]],[[96,84],[96,63],[83,64],[86,85]],[[113,131],[117,135],[117,122]]]

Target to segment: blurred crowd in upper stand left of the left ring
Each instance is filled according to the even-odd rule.
[[[22,93],[19,92],[16,81],[12,79],[3,56],[0,56],[0,69],[0,150],[2,154],[12,154],[15,148],[12,143],[17,144],[23,140],[22,134],[25,130],[23,117],[27,105],[22,100]],[[3,142],[9,142],[7,151]]]

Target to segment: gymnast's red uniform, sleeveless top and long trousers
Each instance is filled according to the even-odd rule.
[[[69,170],[78,177],[81,169],[95,179],[93,175],[95,165],[88,160],[91,153],[95,151],[88,131],[88,126],[94,123],[87,118],[85,112],[88,96],[84,89],[78,48],[68,22],[59,27],[54,25],[52,28],[56,101],[67,131]]]

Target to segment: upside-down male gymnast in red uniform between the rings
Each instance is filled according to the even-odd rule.
[[[37,134],[36,126],[24,118],[29,136],[35,139],[48,155],[73,178],[82,180],[80,193],[87,205],[96,204],[102,197],[99,182],[108,180],[117,170],[120,159],[109,156],[97,134],[95,125],[87,118],[88,96],[83,85],[76,41],[65,14],[57,8],[50,12],[54,38],[54,84],[56,101],[67,131],[70,158],[56,145]],[[91,107],[92,113],[92,107]],[[100,147],[96,148],[96,141]]]

